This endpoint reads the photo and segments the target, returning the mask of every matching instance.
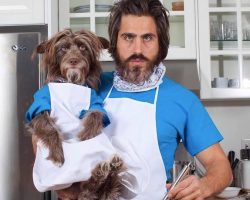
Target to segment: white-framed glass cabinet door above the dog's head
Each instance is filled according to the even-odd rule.
[[[108,38],[107,16],[113,0],[61,0],[59,2],[59,29],[73,31],[88,29]]]

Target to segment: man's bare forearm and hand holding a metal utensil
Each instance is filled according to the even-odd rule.
[[[229,161],[221,146],[217,143],[196,156],[206,169],[205,176],[189,176],[169,192],[174,199],[201,200],[210,197],[232,182]]]

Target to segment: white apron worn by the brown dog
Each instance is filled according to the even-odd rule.
[[[89,88],[70,83],[53,83],[49,84],[49,89],[50,116],[57,118],[56,124],[60,127],[63,138],[66,139],[62,142],[65,162],[58,167],[47,160],[49,151],[38,141],[33,167],[33,182],[40,192],[64,189],[74,182],[88,180],[97,163],[109,161],[114,154],[117,154],[117,150],[105,132],[85,141],[76,139],[82,128],[81,120],[78,118],[79,112],[83,109],[88,110],[90,106],[91,91]],[[137,180],[141,167],[136,154],[129,156],[125,151],[122,152],[122,155],[129,168],[128,172],[121,174],[125,189],[127,188],[124,190],[123,197],[131,199],[141,191]],[[142,181],[140,180],[140,182]]]

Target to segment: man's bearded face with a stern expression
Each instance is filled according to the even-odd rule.
[[[117,38],[118,72],[127,81],[139,83],[152,73],[159,52],[154,19],[124,15]]]

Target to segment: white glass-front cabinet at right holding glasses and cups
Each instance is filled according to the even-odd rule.
[[[250,1],[197,2],[201,98],[250,98]]]

